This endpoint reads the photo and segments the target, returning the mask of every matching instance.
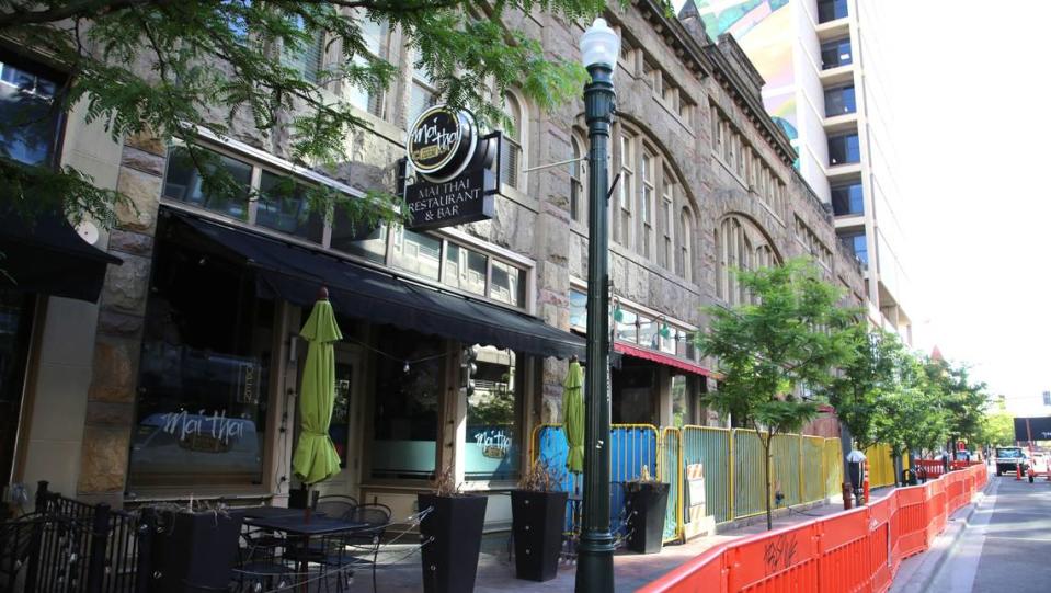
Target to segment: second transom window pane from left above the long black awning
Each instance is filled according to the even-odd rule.
[[[263,171],[255,224],[320,243],[324,217],[310,207],[307,187],[292,178]]]

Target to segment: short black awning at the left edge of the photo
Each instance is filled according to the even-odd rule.
[[[0,288],[95,303],[106,265],[121,260],[77,235],[59,215],[32,221],[0,208]]]

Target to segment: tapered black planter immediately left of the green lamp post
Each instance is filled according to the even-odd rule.
[[[511,491],[515,575],[550,581],[558,575],[568,492]]]

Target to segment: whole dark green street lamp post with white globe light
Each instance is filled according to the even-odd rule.
[[[584,85],[587,121],[587,366],[584,375],[584,511],[576,591],[613,593],[613,534],[609,533],[609,219],[606,201],[613,72],[620,37],[595,22],[580,39],[591,81]]]

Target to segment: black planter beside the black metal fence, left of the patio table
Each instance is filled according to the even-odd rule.
[[[167,511],[153,538],[150,561],[157,593],[220,591],[229,586],[237,561],[241,516]]]

